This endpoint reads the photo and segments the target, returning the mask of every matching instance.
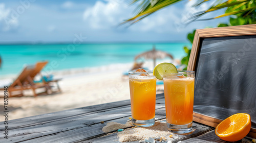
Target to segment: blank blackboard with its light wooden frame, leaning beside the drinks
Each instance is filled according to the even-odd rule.
[[[242,28],[247,28],[243,35],[239,35],[241,32],[225,35],[226,31],[216,36],[218,28],[197,33],[188,67],[196,71],[194,121],[216,127],[232,114],[248,113],[252,123],[250,136],[255,137],[256,33],[251,30],[256,32],[256,25],[250,25],[250,30]],[[241,30],[241,26],[238,29]],[[211,34],[200,36],[200,32],[210,31]]]

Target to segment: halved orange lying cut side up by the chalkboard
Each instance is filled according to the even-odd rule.
[[[246,113],[233,114],[222,121],[215,129],[215,133],[226,141],[238,141],[250,131],[251,117]]]

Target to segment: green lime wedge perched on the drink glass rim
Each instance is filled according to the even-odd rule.
[[[162,80],[164,74],[177,74],[177,68],[172,63],[160,63],[158,64],[153,71],[154,76],[157,79]]]

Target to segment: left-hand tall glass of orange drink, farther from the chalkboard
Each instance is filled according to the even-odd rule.
[[[156,81],[153,70],[129,71],[132,124],[134,126],[150,127],[155,124]]]

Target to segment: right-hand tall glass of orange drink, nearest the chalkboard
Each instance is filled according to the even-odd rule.
[[[165,74],[164,98],[169,131],[185,134],[192,131],[195,71],[180,70]]]

